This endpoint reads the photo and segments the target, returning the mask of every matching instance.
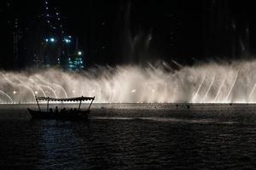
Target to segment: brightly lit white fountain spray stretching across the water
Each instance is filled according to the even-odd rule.
[[[96,102],[110,103],[256,102],[256,61],[184,66],[172,72],[163,69],[163,65],[106,66],[80,73],[1,71],[0,77],[0,103],[3,104],[31,103],[35,95],[96,96]]]

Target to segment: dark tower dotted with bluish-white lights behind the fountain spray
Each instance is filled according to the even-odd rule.
[[[33,54],[36,68],[61,68],[80,71],[84,68],[84,55],[79,50],[78,37],[67,34],[61,13],[44,1],[43,14],[39,16],[40,48]]]

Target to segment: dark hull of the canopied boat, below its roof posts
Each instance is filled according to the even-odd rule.
[[[49,119],[49,120],[67,120],[67,121],[86,121],[90,111],[72,111],[72,112],[46,112],[32,111],[27,109],[32,119]]]

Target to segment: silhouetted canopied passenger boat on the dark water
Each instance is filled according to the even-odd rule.
[[[38,104],[38,110],[34,111],[32,109],[27,108],[30,115],[32,116],[32,119],[55,119],[55,120],[70,120],[70,121],[79,121],[79,120],[88,120],[89,113],[90,113],[90,106],[92,105],[92,102],[94,101],[95,97],[77,97],[77,98],[64,98],[64,99],[57,99],[57,98],[49,98],[49,97],[37,97],[35,96],[35,99]],[[40,100],[47,102],[47,109],[46,111],[41,109],[39,102]],[[87,110],[83,111],[81,110],[81,104],[83,101],[90,100],[90,105],[87,108]],[[59,111],[58,107],[55,107],[55,111],[53,111],[52,108],[49,108],[49,102],[79,102],[79,108],[78,109],[69,109],[66,110],[66,108],[62,108],[61,111]]]

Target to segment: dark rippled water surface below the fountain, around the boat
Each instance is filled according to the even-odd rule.
[[[26,106],[0,106],[1,169],[256,168],[256,105],[96,105],[87,123]]]

